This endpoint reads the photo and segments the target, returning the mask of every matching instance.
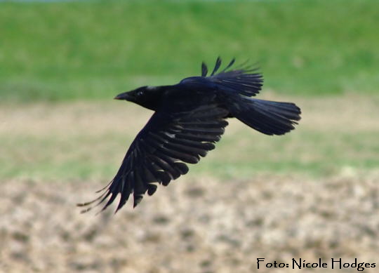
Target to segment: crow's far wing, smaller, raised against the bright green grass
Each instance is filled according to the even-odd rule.
[[[262,74],[257,72],[258,69],[244,67],[244,65],[241,65],[236,69],[228,70],[232,67],[234,61],[235,59],[218,72],[218,69],[221,66],[221,59],[218,57],[213,72],[211,75],[207,76],[206,79],[212,81],[219,88],[235,91],[248,97],[258,94],[262,88]],[[216,74],[217,72],[218,74]],[[207,74],[208,67],[206,67],[203,62],[201,64],[201,76],[206,76]]]

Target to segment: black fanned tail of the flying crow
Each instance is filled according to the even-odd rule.
[[[266,135],[284,135],[301,119],[300,108],[292,102],[272,102],[236,96],[228,105],[230,114]]]

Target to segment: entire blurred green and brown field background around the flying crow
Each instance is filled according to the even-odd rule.
[[[0,1],[0,272],[378,264],[378,11],[375,0]],[[114,95],[199,75],[218,55],[258,61],[259,98],[300,106],[296,130],[231,121],[217,149],[137,208],[79,214],[152,114]]]

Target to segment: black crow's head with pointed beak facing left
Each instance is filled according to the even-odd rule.
[[[159,95],[159,86],[142,86],[132,91],[120,93],[115,100],[128,100],[148,109],[154,109]]]

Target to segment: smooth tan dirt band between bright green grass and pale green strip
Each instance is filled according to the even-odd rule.
[[[268,95],[267,95],[268,93]],[[280,97],[266,92],[259,98],[293,101],[302,108],[300,128],[317,131],[379,131],[379,97],[344,95],[338,97]],[[128,102],[70,102],[15,107],[1,105],[0,134],[75,135],[138,131],[152,112]],[[226,134],[246,127],[232,119]]]

